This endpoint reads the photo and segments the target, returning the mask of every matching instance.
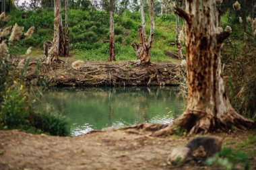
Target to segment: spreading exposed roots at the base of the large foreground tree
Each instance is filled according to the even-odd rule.
[[[150,136],[168,136],[186,132],[192,134],[206,134],[207,132],[231,132],[233,130],[247,130],[256,128],[255,122],[244,118],[233,108],[223,116],[214,117],[198,111],[186,110],[186,112],[173,123],[164,124],[137,124],[125,129],[150,131]]]

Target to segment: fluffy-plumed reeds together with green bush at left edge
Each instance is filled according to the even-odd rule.
[[[11,32],[11,36],[15,37],[13,40],[19,40],[24,36],[22,27],[16,27],[16,29],[19,30],[17,31],[13,27]],[[8,46],[12,42],[9,38],[10,32],[4,31],[5,29],[0,30],[1,35],[4,35],[1,36],[0,44],[0,129],[19,128],[34,133],[46,132],[60,136],[68,135],[69,127],[65,118],[52,112],[48,114],[43,111],[38,112],[34,107],[38,101],[38,95],[32,93],[33,90],[28,90],[24,83],[30,60],[26,60],[21,71],[15,68],[9,58]],[[9,43],[6,44],[8,39]],[[38,69],[36,67],[36,71]],[[15,80],[15,77],[19,77],[19,79]]]

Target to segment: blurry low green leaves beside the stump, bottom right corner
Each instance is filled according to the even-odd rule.
[[[249,170],[250,161],[247,154],[243,152],[234,152],[232,148],[223,148],[222,151],[216,153],[214,157],[208,158],[205,165],[218,164],[225,169],[244,169]]]

